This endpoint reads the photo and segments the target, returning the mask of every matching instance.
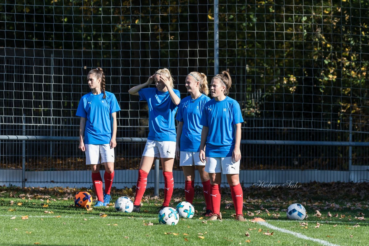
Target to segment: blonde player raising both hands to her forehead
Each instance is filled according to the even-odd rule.
[[[144,88],[155,81],[155,88]],[[179,90],[175,90],[168,69],[159,69],[146,83],[132,87],[128,92],[147,101],[149,106],[149,135],[138,170],[133,211],[140,211],[142,196],[146,190],[147,176],[156,158],[161,158],[164,176],[164,202],[159,209],[169,206],[173,194],[173,162],[176,150],[176,128],[174,115],[181,101]]]

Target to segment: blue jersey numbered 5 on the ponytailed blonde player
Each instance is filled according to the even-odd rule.
[[[193,100],[191,96],[181,100],[177,112],[177,121],[183,122],[180,151],[200,151],[203,129],[203,126],[200,125],[200,119],[204,105],[208,101],[210,98],[202,93],[196,100]]]

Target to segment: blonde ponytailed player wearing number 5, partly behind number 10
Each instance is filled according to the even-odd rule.
[[[206,75],[191,72],[186,77],[185,85],[190,96],[183,98],[178,107],[176,157],[186,177],[184,197],[191,204],[194,197],[195,167],[199,170],[206,201],[206,212],[203,215],[210,217],[212,212],[209,193],[210,179],[209,174],[204,171],[205,163],[199,159],[202,130],[200,119],[204,104],[210,101],[210,98],[206,96],[209,94]]]

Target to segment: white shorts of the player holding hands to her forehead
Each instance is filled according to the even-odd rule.
[[[142,156],[173,158],[176,155],[176,142],[147,139]]]

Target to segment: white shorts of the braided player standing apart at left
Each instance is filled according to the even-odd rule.
[[[86,165],[114,162],[114,148],[110,144],[85,144]]]

